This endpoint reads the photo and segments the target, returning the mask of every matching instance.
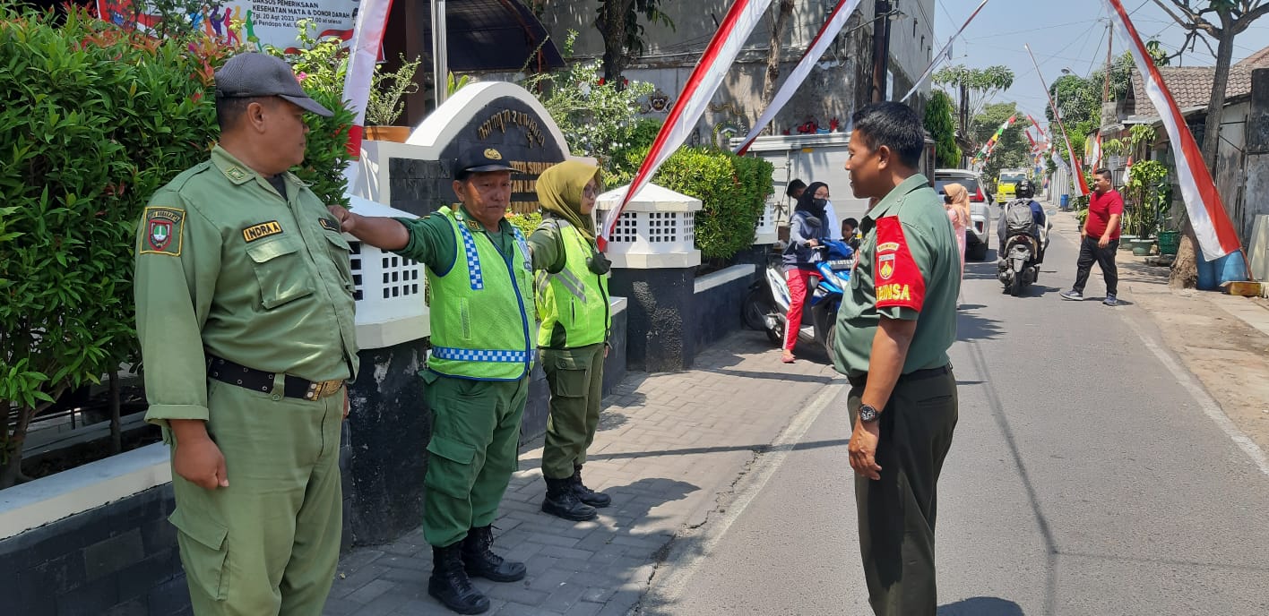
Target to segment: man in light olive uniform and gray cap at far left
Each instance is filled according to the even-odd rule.
[[[146,420],[171,445],[194,613],[321,613],[339,560],[339,440],[357,376],[349,245],[288,170],[310,99],[279,58],[216,74],[221,142],[137,232]]]

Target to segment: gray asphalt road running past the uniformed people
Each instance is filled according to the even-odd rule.
[[[1269,615],[1269,477],[1131,297],[1057,297],[1075,259],[1055,237],[1023,298],[1001,294],[994,262],[967,267],[939,613]],[[1103,290],[1095,273],[1085,294]],[[871,613],[844,401],[830,389],[793,417],[695,530],[704,553],[669,553],[641,613]]]

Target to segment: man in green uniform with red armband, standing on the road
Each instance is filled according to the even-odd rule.
[[[935,492],[957,422],[961,255],[943,202],[916,172],[921,118],[901,103],[854,115],[846,171],[857,198],[879,199],[841,300],[832,350],[850,380],[859,546],[878,616],[934,616]]]

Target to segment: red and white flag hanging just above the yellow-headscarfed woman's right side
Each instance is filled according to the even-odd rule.
[[[626,209],[631,198],[638,194],[661,164],[683,142],[688,141],[692,128],[700,119],[709,99],[713,98],[722,79],[727,76],[728,68],[736,61],[736,55],[745,47],[745,41],[754,32],[754,27],[763,20],[770,4],[772,0],[736,0],[736,4],[731,5],[731,10],[727,11],[727,16],[718,27],[718,32],[709,41],[704,55],[700,56],[700,61],[697,62],[692,76],[684,84],[683,91],[679,93],[678,103],[670,110],[670,117],[665,119],[661,131],[656,133],[652,150],[647,152],[647,158],[643,158],[643,165],[634,174],[634,181],[626,188],[621,203],[604,215],[604,224],[599,229],[599,250],[608,246],[608,236],[612,234],[617,219],[621,218],[622,210]]]

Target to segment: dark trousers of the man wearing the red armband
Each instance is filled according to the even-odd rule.
[[[864,387],[851,385],[853,426]],[[855,475],[868,602],[877,616],[934,616],[935,488],[957,422],[956,376],[901,378],[878,421],[881,479]]]

